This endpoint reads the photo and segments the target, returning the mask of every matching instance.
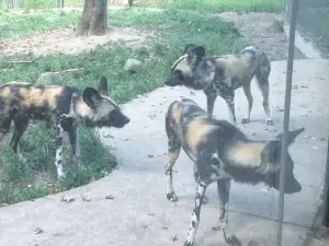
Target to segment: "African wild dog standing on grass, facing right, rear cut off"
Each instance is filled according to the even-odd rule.
[[[77,127],[123,128],[129,122],[120,107],[109,97],[104,77],[98,90],[86,87],[80,91],[67,85],[33,85],[25,82],[9,82],[0,86],[0,142],[14,121],[10,144],[20,161],[24,161],[19,141],[30,119],[52,122],[56,132],[56,160],[58,177],[65,177],[63,137],[66,131],[77,162],[80,149]]]

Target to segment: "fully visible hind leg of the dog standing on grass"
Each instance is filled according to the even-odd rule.
[[[20,162],[25,162],[26,160],[23,157],[21,151],[20,151],[20,139],[27,129],[29,126],[29,119],[27,118],[16,118],[14,119],[14,132],[10,140],[10,145],[14,153],[16,154]]]

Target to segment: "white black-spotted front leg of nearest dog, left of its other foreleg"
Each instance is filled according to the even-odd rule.
[[[195,234],[196,234],[197,226],[200,223],[200,212],[201,212],[202,199],[204,197],[207,186],[208,186],[208,184],[201,179],[197,183],[197,190],[196,190],[195,200],[194,200],[194,210],[193,210],[193,213],[191,216],[190,230],[189,230],[188,236],[185,238],[184,246],[193,246],[194,245]]]

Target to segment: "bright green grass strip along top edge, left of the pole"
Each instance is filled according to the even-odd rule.
[[[283,0],[136,0],[135,5],[160,9],[179,8],[206,12],[280,12]]]

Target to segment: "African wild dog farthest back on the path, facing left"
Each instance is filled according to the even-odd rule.
[[[222,96],[229,112],[230,121],[236,125],[235,90],[243,87],[248,99],[248,113],[241,120],[250,121],[252,95],[250,82],[256,75],[263,95],[266,124],[273,125],[269,106],[269,74],[271,63],[259,48],[249,46],[238,54],[205,57],[203,46],[190,44],[182,56],[171,67],[171,74],[164,84],[169,86],[185,85],[193,90],[203,90],[207,97],[207,112],[213,114],[217,95]]]

